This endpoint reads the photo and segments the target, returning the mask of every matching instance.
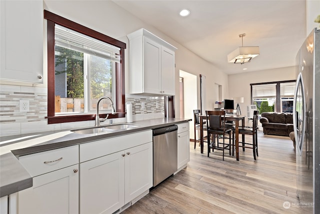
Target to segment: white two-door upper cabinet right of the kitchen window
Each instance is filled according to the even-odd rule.
[[[130,93],[174,95],[176,48],[145,29],[129,35]]]

